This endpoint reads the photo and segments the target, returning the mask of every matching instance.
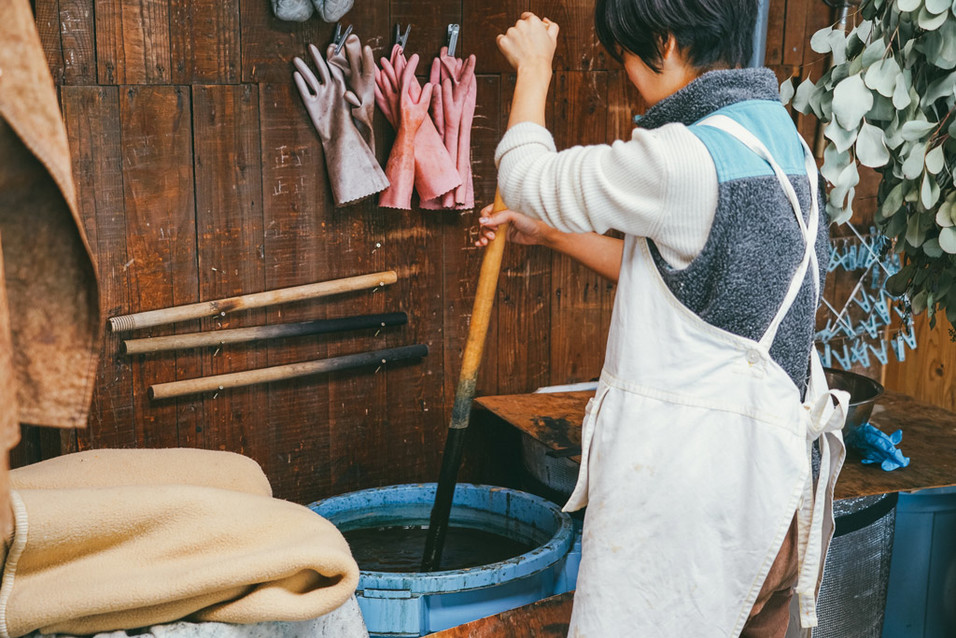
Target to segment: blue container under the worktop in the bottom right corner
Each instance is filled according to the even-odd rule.
[[[956,636],[956,487],[901,493],[883,638]]]

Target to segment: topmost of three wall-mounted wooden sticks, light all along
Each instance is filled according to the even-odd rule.
[[[254,292],[238,297],[201,301],[184,306],[173,306],[171,308],[147,310],[146,312],[138,312],[132,315],[110,317],[110,329],[113,332],[127,332],[129,330],[136,330],[137,328],[151,328],[167,323],[202,319],[203,317],[213,317],[216,315],[225,317],[227,313],[237,310],[249,310],[251,308],[262,308],[263,306],[288,303],[290,301],[328,297],[329,295],[338,295],[354,290],[387,286],[394,284],[396,281],[398,281],[398,275],[396,275],[394,271],[388,270],[368,275],[358,275],[356,277],[345,277],[344,279],[320,281],[303,286]]]

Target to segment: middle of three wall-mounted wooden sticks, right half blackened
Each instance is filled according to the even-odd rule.
[[[301,337],[306,335],[342,332],[345,330],[363,330],[366,328],[384,328],[408,323],[404,312],[388,312],[378,315],[360,315],[339,319],[319,319],[299,323],[280,323],[272,326],[253,326],[209,332],[191,332],[166,337],[148,337],[145,339],[127,339],[123,342],[126,354],[149,354],[167,350],[187,350],[207,346],[221,346],[227,343],[246,343],[260,339],[279,339],[282,337]]]

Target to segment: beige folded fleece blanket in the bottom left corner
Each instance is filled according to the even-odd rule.
[[[239,455],[98,450],[14,470],[11,483],[0,638],[305,620],[358,583],[338,530],[271,498]]]

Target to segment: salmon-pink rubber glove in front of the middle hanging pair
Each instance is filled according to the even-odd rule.
[[[412,84],[418,85],[415,69],[418,67],[418,55],[413,55],[402,70],[399,93],[399,123],[392,144],[392,152],[385,165],[385,174],[391,185],[385,189],[378,205],[385,208],[412,207],[412,191],[415,188],[415,146],[418,130],[428,119],[428,105],[432,97],[432,84],[416,91],[412,97]]]

